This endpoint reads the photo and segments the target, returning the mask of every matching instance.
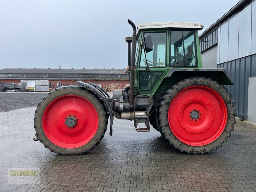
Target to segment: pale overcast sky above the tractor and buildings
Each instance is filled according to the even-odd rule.
[[[239,0],[0,0],[0,69],[126,68],[132,27],[192,21],[202,33]]]

